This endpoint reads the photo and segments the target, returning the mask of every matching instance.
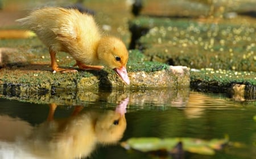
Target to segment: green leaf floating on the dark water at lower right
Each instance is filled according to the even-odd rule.
[[[135,149],[141,152],[166,151],[174,153],[173,149],[179,143],[182,143],[184,151],[198,154],[213,155],[215,150],[221,149],[228,144],[226,139],[202,140],[190,137],[174,137],[160,139],[158,137],[138,137],[130,138],[121,143],[126,149]]]

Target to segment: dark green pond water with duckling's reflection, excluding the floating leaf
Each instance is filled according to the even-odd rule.
[[[72,158],[71,153],[80,157],[81,152],[89,158],[175,158],[127,151],[115,141],[225,136],[242,146],[229,145],[213,155],[185,152],[181,158],[255,157],[255,102],[234,101],[225,94],[171,93],[176,95],[164,98],[154,91],[99,95],[97,100],[80,101],[79,106],[0,98],[0,158]],[[110,96],[118,100],[109,100]]]

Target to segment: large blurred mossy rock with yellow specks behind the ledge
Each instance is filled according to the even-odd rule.
[[[202,23],[141,16],[130,25],[149,28],[137,40],[150,61],[191,68],[256,72],[255,23]]]

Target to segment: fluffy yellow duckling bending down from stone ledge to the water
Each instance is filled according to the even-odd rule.
[[[126,71],[129,53],[125,44],[117,37],[103,35],[92,15],[76,9],[46,7],[16,21],[34,31],[49,48],[53,71],[77,72],[57,65],[56,53],[64,51],[71,54],[76,60],[74,66],[81,70],[101,70],[106,66],[130,84]]]

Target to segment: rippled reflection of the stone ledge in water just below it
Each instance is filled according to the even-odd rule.
[[[0,85],[1,86],[1,85]],[[4,86],[6,87],[6,85]],[[175,106],[184,107],[188,102],[189,88],[172,89],[172,88],[151,88],[151,89],[119,89],[119,90],[104,90],[104,89],[80,89],[76,92],[73,90],[54,89],[41,92],[24,92],[20,91],[16,85],[8,85],[3,89],[0,87],[0,97],[24,102],[34,102],[36,104],[51,104],[57,105],[83,105],[90,106],[92,102],[95,106],[99,106],[97,101],[113,104],[121,102],[129,97],[130,107],[145,106],[145,103],[152,103],[159,106],[159,109],[167,109],[165,105],[174,103]],[[179,105],[180,104],[180,105]],[[115,105],[104,105],[115,106]],[[151,108],[145,108],[151,109]]]

